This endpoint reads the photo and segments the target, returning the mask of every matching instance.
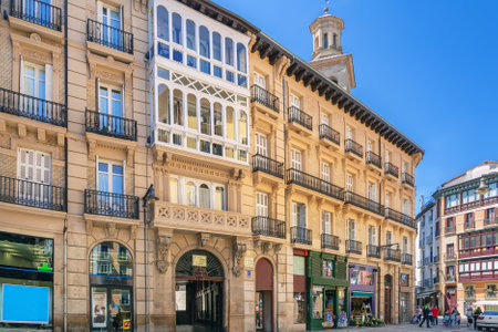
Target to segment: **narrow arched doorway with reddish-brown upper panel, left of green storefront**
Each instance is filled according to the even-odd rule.
[[[273,331],[273,267],[266,258],[256,263],[256,330]]]

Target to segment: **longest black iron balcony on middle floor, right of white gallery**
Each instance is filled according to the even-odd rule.
[[[297,184],[335,199],[344,200],[344,190],[342,188],[294,168],[287,169],[286,183],[288,185]]]

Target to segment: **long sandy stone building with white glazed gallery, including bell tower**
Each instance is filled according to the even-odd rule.
[[[409,320],[424,151],[349,93],[341,19],[307,63],[210,1],[1,10],[2,326]]]

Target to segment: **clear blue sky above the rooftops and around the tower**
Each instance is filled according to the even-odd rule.
[[[305,61],[323,0],[215,0]],[[497,0],[332,0],[352,94],[425,149],[419,196],[498,160]]]

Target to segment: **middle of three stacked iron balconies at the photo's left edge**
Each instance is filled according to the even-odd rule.
[[[0,87],[0,112],[65,127],[65,105]]]

